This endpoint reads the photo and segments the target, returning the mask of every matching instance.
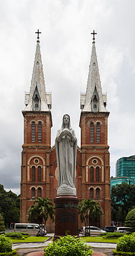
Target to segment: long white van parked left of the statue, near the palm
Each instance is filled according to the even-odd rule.
[[[14,231],[28,233],[28,235],[31,235],[31,236],[37,236],[39,234],[40,228],[39,228],[39,224],[36,224],[36,223],[15,223]],[[45,231],[45,235],[46,235],[46,231]]]

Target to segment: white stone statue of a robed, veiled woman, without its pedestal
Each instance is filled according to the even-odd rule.
[[[58,167],[57,195],[76,195],[75,169],[77,138],[71,128],[70,116],[64,115],[62,128],[56,136],[56,158]]]

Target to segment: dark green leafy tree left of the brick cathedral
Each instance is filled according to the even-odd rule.
[[[10,223],[19,222],[19,208],[20,196],[11,190],[5,191],[3,185],[0,184],[0,212],[3,215],[5,226],[9,227]]]

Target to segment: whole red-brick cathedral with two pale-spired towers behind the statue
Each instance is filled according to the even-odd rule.
[[[110,165],[108,145],[107,95],[102,94],[95,37],[93,34],[86,92],[81,93],[81,147],[77,147],[75,187],[79,201],[92,199],[100,204],[102,215],[94,223],[98,227],[111,225]],[[51,147],[52,95],[45,90],[43,66],[37,46],[30,92],[25,94],[24,143],[20,182],[20,223],[28,222],[28,208],[36,197],[48,197],[54,202],[58,189],[55,145]],[[54,124],[55,125],[55,124]],[[79,220],[79,227],[82,224]],[[47,231],[54,223],[47,221]]]

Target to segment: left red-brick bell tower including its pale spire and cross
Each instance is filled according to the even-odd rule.
[[[50,197],[50,148],[52,96],[45,91],[39,29],[30,92],[25,94],[24,143],[20,182],[20,223],[36,197]]]

